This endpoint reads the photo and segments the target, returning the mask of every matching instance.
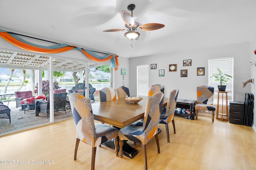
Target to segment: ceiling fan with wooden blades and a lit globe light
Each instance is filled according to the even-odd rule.
[[[128,5],[128,10],[133,11],[135,9],[134,4]],[[124,36],[133,40],[133,39],[138,39],[140,37],[140,33],[137,32],[137,30],[142,30],[142,31],[152,31],[156,29],[160,29],[164,27],[163,24],[161,23],[146,23],[144,25],[140,25],[138,22],[135,22],[132,18],[132,15],[130,15],[126,11],[121,12],[122,19],[125,22],[125,27],[127,29],[106,29],[104,32],[116,32],[116,31],[127,31],[124,33]]]

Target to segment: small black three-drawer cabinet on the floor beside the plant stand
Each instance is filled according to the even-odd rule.
[[[229,103],[229,123],[244,125],[244,102]]]

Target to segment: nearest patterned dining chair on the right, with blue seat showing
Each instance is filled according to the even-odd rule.
[[[141,143],[142,152],[144,155],[144,169],[146,170],[148,169],[146,144],[153,137],[155,137],[156,139],[157,150],[158,153],[160,153],[158,140],[158,123],[160,117],[159,102],[163,99],[163,97],[164,94],[162,92],[156,92],[153,96],[148,97],[144,113],[144,122],[142,126],[136,126],[132,124],[118,131],[120,157],[122,157],[123,155],[122,146],[124,140],[130,140],[136,143]]]

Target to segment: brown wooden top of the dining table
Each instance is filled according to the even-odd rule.
[[[125,98],[92,104],[94,120],[122,129],[142,119],[144,117],[148,97],[138,97],[142,97],[143,99],[136,104],[132,104]],[[164,98],[162,107],[167,105],[167,101],[168,98]],[[116,153],[116,156],[117,155]]]

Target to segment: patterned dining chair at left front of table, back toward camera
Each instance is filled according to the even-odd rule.
[[[83,141],[92,147],[91,169],[94,170],[96,147],[100,144],[115,138],[115,152],[116,156],[118,155],[118,129],[102,123],[94,124],[90,98],[72,93],[69,95],[69,101],[76,127],[74,160],[76,160],[79,142]]]

